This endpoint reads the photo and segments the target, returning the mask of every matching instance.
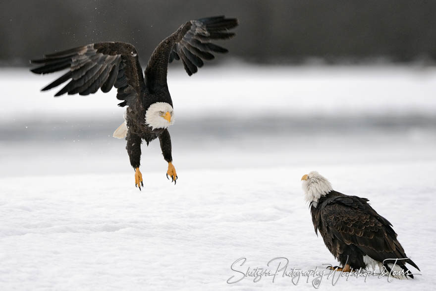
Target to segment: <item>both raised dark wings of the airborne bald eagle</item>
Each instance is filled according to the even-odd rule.
[[[98,89],[109,92],[115,87],[118,89],[117,99],[123,100],[119,105],[131,106],[141,96],[140,92],[145,86],[150,92],[167,86],[168,61],[181,59],[186,72],[191,75],[203,66],[203,60],[214,58],[212,53],[226,53],[226,49],[212,44],[211,40],[234,36],[228,29],[237,25],[237,19],[224,16],[186,22],[155,49],[145,71],[146,82],[135,47],[120,42],[89,44],[46,55],[31,61],[40,65],[31,71],[46,74],[69,69],[42,89],[49,90],[70,80],[55,96],[65,93],[88,95]]]

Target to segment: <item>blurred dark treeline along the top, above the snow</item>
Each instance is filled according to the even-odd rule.
[[[248,61],[436,59],[436,1],[17,0],[0,9],[3,65],[100,41],[132,43],[145,62],[184,21],[219,14],[239,18],[225,46]]]

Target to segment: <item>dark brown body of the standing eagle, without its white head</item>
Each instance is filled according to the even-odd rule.
[[[315,233],[321,233],[327,249],[342,265],[347,263],[353,269],[367,267],[365,255],[382,263],[386,259],[407,258],[390,222],[367,202],[366,198],[330,191],[316,207],[311,203]],[[406,271],[405,263],[419,270],[411,259],[399,260],[397,265]],[[388,268],[387,262],[384,265]]]

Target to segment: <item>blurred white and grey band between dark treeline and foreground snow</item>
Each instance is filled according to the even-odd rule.
[[[39,92],[55,76],[4,69],[1,175],[126,173],[115,93]],[[407,66],[258,66],[240,62],[188,77],[170,67],[179,169],[432,161],[436,69]],[[16,88],[20,88],[17,90]],[[7,96],[7,97],[6,97]],[[17,162],[17,160],[22,161]],[[144,171],[166,167],[159,143]],[[312,169],[312,168],[311,168]]]

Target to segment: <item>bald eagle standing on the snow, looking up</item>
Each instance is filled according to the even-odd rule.
[[[331,269],[351,272],[378,265],[398,279],[406,278],[404,275],[413,278],[405,264],[419,270],[418,266],[404,253],[392,224],[368,204],[368,199],[334,191],[315,171],[301,180],[315,233],[321,233],[327,249],[343,266]]]

